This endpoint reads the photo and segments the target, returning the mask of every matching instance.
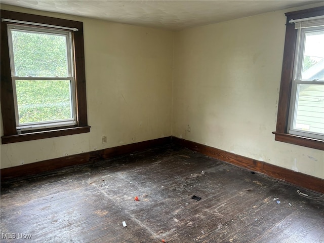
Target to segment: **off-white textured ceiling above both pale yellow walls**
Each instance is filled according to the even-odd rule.
[[[2,4],[30,9],[171,30],[180,30],[319,2],[322,1],[1,0]]]

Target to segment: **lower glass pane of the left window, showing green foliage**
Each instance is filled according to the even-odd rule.
[[[73,118],[70,80],[16,80],[19,124]]]

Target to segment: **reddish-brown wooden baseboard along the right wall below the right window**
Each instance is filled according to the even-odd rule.
[[[172,142],[233,165],[247,168],[251,171],[260,172],[267,176],[294,184],[302,188],[324,193],[323,179],[177,137],[172,137]]]

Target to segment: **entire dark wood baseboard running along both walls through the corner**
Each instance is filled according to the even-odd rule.
[[[114,156],[141,151],[159,145],[169,144],[170,142],[197,151],[199,153],[203,153],[205,155],[220,159],[227,163],[242,168],[247,168],[251,171],[259,172],[267,176],[294,184],[302,188],[324,193],[323,179],[288,170],[282,167],[274,166],[249,157],[226,152],[224,150],[210,147],[207,145],[180,139],[177,137],[158,138],[133,144],[127,144],[123,146],[117,146],[113,148],[106,148],[81,154],[74,154],[65,157],[39,161],[36,163],[26,164],[22,166],[4,168],[0,170],[1,181],[49,172],[68,166],[89,164],[99,160],[112,158]]]

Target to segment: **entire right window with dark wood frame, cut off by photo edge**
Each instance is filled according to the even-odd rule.
[[[286,13],[275,140],[324,150],[324,8]]]

